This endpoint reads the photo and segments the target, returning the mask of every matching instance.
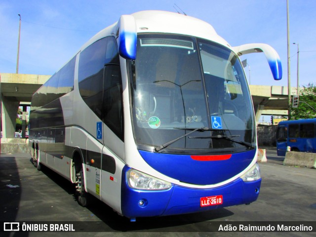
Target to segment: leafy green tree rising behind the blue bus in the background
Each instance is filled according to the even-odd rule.
[[[316,118],[316,85],[309,83],[300,90],[298,108],[291,109],[291,119]]]

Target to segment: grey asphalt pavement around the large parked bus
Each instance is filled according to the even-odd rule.
[[[316,221],[316,169],[285,166],[275,150],[260,163],[262,185],[258,200],[204,213],[138,218],[130,223],[95,199],[89,208],[78,205],[74,187],[49,169],[38,171],[28,154],[0,156],[0,221],[93,221],[104,233],[63,233],[68,236],[244,236],[209,233],[214,221]],[[8,233],[5,233],[8,234]],[[17,233],[15,233],[17,234]],[[60,233],[23,233],[60,236]],[[315,233],[248,233],[251,236],[312,236]],[[1,233],[0,233],[1,236]],[[7,235],[9,236],[9,235]],[[10,236],[16,236],[11,234]]]

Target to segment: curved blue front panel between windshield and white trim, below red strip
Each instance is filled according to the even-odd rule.
[[[255,150],[232,154],[225,160],[201,161],[189,155],[171,155],[139,151],[158,172],[181,182],[210,185],[228,180],[242,172],[254,159]]]

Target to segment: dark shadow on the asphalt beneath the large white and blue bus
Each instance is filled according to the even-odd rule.
[[[42,172],[54,183],[75,198],[75,186],[62,176],[58,175],[49,168],[42,166]],[[96,226],[100,231],[109,232],[194,232],[192,224],[197,230],[205,227],[209,231],[211,226],[209,221],[215,221],[218,218],[225,218],[234,215],[233,212],[225,208],[215,209],[206,212],[164,216],[164,217],[141,217],[136,222],[130,222],[126,217],[118,215],[111,207],[100,201],[96,197],[90,196],[91,204],[87,207],[102,222],[91,223],[89,221],[80,223],[80,231],[91,230],[91,225]],[[79,206],[78,208],[83,208]],[[186,225],[188,225],[186,227]]]

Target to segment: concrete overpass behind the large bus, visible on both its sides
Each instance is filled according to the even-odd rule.
[[[3,138],[14,136],[18,107],[23,106],[23,114],[25,114],[33,93],[49,78],[49,75],[0,74]],[[257,122],[261,115],[287,115],[286,86],[250,85],[249,87]],[[292,91],[295,94],[296,88],[293,87]]]

